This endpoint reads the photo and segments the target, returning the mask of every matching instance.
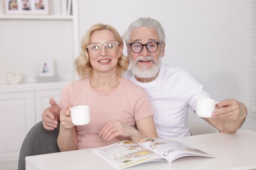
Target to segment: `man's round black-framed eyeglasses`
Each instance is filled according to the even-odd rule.
[[[140,42],[132,42],[129,43],[129,46],[131,46],[131,50],[135,53],[141,52],[143,50],[143,46],[146,46],[146,49],[149,52],[156,52],[156,50],[158,50],[158,44],[161,44],[161,42],[150,41],[146,44],[141,44]]]

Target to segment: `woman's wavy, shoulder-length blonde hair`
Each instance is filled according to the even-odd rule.
[[[81,53],[74,61],[75,69],[77,71],[77,75],[79,76],[79,78],[84,78],[85,76],[89,76],[93,73],[93,67],[90,63],[87,46],[91,43],[91,35],[93,34],[93,32],[99,31],[102,29],[105,29],[114,33],[117,42],[120,45],[123,45],[123,39],[121,38],[121,35],[119,35],[117,30],[111,25],[108,25],[108,24],[92,25],[87,30],[87,32],[83,35],[83,38],[81,40]],[[128,67],[129,67],[129,59],[122,52],[121,57],[118,59],[118,62],[116,65],[116,74],[118,76],[121,76],[123,72],[127,71]]]

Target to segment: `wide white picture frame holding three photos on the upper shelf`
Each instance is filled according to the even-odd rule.
[[[49,0],[4,0],[6,14],[49,14]]]

